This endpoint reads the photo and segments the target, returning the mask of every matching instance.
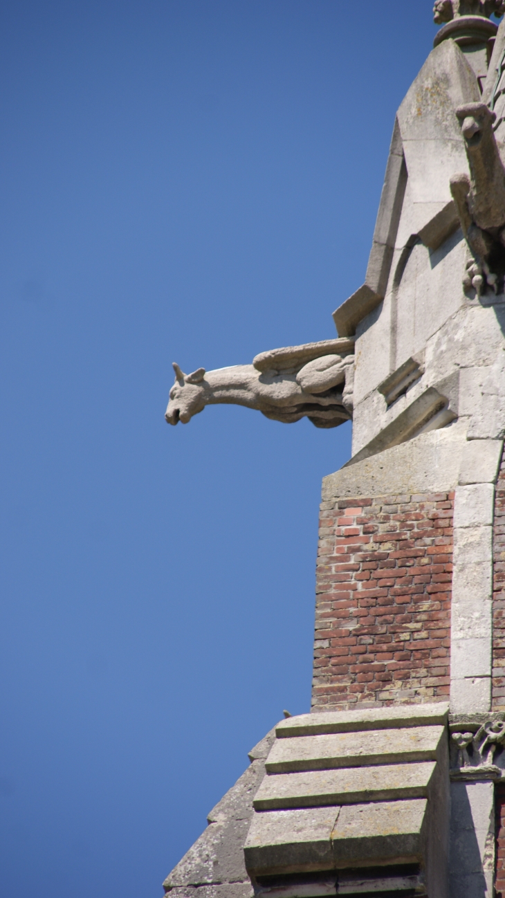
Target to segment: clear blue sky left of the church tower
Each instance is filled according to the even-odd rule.
[[[335,335],[431,5],[0,8],[3,898],[161,898],[309,709],[350,426],[168,427],[171,363]]]

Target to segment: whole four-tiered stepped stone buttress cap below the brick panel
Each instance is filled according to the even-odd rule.
[[[323,718],[355,730],[310,735],[311,721],[317,728]],[[416,726],[418,718],[430,726]],[[359,728],[377,723],[394,728]],[[445,896],[446,703],[300,715],[276,731],[244,849],[253,877],[415,860],[426,867],[429,894]],[[416,762],[419,751],[430,761]],[[281,772],[300,759],[312,770]]]

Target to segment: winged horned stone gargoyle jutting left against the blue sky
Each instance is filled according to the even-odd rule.
[[[187,424],[206,405],[229,403],[259,409],[274,421],[308,418],[315,427],[338,427],[352,417],[354,338],[322,340],[262,352],[253,365],[183,374],[175,383],[165,419]]]

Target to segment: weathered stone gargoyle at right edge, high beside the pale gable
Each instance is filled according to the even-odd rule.
[[[483,102],[456,109],[470,166],[450,180],[452,197],[473,258],[463,285],[477,296],[486,285],[494,293],[505,275],[505,167],[492,130],[495,114]]]

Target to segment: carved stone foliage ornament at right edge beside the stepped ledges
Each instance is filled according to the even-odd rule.
[[[485,723],[450,726],[451,779],[505,777],[505,720],[494,715]]]

